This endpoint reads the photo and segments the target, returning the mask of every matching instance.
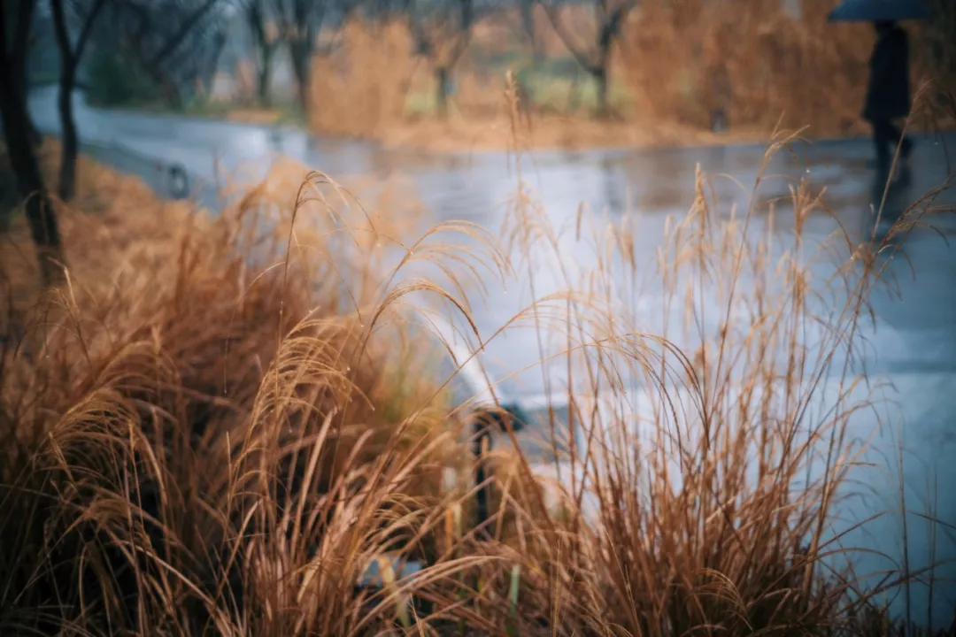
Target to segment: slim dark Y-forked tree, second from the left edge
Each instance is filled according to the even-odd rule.
[[[70,42],[67,28],[67,16],[63,0],[50,0],[54,15],[56,45],[60,55],[60,78],[58,107],[63,154],[60,159],[59,196],[64,202],[73,199],[76,193],[76,155],[79,152],[79,139],[76,135],[76,121],[73,117],[73,96],[76,88],[76,70],[93,31],[93,25],[99,12],[110,0],[74,0],[70,8],[76,13],[80,25],[76,43]]]

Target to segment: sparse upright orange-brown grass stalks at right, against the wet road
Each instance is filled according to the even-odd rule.
[[[778,138],[769,155],[791,140]],[[948,188],[928,193],[884,235],[844,229],[811,245],[805,226],[830,211],[806,180],[793,183],[791,201],[768,210],[754,200],[720,221],[701,175],[694,206],[671,220],[645,273],[636,218],[607,223],[581,212],[555,228],[522,186],[502,233],[506,251],[527,268],[532,290],[535,270],[549,264],[567,291],[535,295],[512,322],[558,335],[560,364],[543,373],[567,406],[549,404],[544,437],[563,437],[571,453],[546,468],[520,454],[489,458],[493,539],[458,549],[503,559],[475,568],[482,630],[924,634],[909,618],[925,608],[907,608],[898,625],[875,600],[917,575],[932,583],[936,566],[910,573],[903,564],[873,586],[847,563],[853,547],[834,536],[863,453],[848,427],[875,406],[865,376],[849,374],[837,352],[858,354],[859,318],[886,259]],[[775,205],[786,210],[793,244],[754,237],[752,226]],[[593,269],[569,268],[569,236],[594,245]],[[831,250],[833,279],[815,280],[811,262]],[[663,287],[673,331],[642,329],[648,275]]]

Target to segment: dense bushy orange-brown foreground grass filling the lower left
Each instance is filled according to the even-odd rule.
[[[141,200],[61,207],[69,285],[7,317],[0,631],[349,634],[393,617],[354,587],[373,558],[428,552],[454,431],[428,350],[390,327],[423,286],[353,285],[365,260],[348,251],[383,240],[319,201],[337,195],[321,176],[215,219],[120,181]],[[333,261],[337,234],[352,238]],[[13,265],[30,250],[8,247],[5,281],[33,281]]]

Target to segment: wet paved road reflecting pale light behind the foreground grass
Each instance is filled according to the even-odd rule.
[[[49,92],[35,95],[32,101],[33,116],[47,131],[57,129],[54,104]],[[214,177],[217,160],[220,169],[228,173],[250,162],[261,165],[262,159],[271,154],[283,154],[334,177],[368,174],[384,177],[402,172],[414,180],[425,205],[440,219],[464,219],[496,229],[514,214],[505,202],[515,192],[516,179],[501,154],[427,159],[382,153],[360,142],[318,141],[294,131],[103,113],[81,104],[77,109],[77,122],[84,140],[120,142],[144,157],[179,162],[202,179]],[[919,139],[911,159],[909,183],[894,191],[888,207],[899,209],[943,183],[951,172],[947,151],[956,156],[953,136]],[[535,252],[531,265],[535,296],[540,298],[564,287],[560,272],[567,272],[577,283],[578,278],[596,264],[593,247],[588,242],[577,241],[574,236],[580,204],[597,213],[606,211],[607,219],[615,222],[625,214],[633,214],[640,228],[636,233],[636,250],[646,257],[647,265],[641,268],[646,275],[641,281],[640,294],[631,298],[620,278],[615,281],[618,290],[615,293],[626,297],[634,314],[641,316],[638,327],[654,333],[663,330],[675,333],[672,321],[657,318],[664,314],[663,293],[660,277],[652,268],[665,219],[667,215],[683,216],[693,202],[698,163],[708,173],[727,176],[714,178],[721,204],[712,215],[728,218],[732,204],[746,207],[762,154],[763,149],[758,147],[535,154],[525,163],[523,174],[527,185],[554,227],[572,229],[558,238],[556,252],[550,249]],[[822,241],[836,230],[837,224],[845,228],[854,243],[864,242],[874,224],[869,205],[873,176],[866,166],[870,155],[870,145],[865,141],[800,146],[796,156],[784,153],[774,159],[766,174],[782,177],[764,181],[757,191],[758,198],[766,201],[785,195],[794,179],[808,178],[817,189],[826,186],[824,202],[834,210],[833,216],[815,214],[808,218],[804,232],[808,244]],[[956,202],[956,195],[947,192],[940,202]],[[793,212],[788,211],[787,205],[778,205],[773,222],[776,230],[772,233],[778,253],[793,244],[785,229],[793,226],[792,220]],[[869,343],[865,362],[870,373],[880,374],[892,383],[894,393],[887,398],[897,402],[892,414],[887,412],[892,417],[889,423],[892,427],[881,434],[884,443],[875,443],[867,455],[867,459],[878,462],[883,469],[861,469],[858,479],[874,487],[884,506],[898,508],[896,484],[901,472],[893,466],[887,470],[885,455],[896,442],[893,436],[902,433],[907,452],[902,476],[906,478],[910,508],[923,510],[914,502],[926,498],[926,485],[933,483],[931,476],[935,471],[941,492],[937,499],[937,517],[956,528],[956,497],[952,497],[951,488],[945,486],[956,484],[956,462],[945,459],[956,457],[956,247],[946,243],[947,238],[956,236],[954,221],[948,217],[934,219],[943,236],[929,229],[911,232],[903,245],[908,261],[898,257],[888,265],[889,275],[896,278],[899,287],[894,293],[880,288],[871,297],[876,322],[864,330]],[[770,223],[766,214],[755,215],[750,236],[766,236]],[[827,267],[817,266],[815,275],[825,277],[832,270]],[[917,273],[915,279],[911,268]],[[527,265],[523,271],[528,271]],[[491,289],[488,302],[476,306],[475,319],[484,337],[531,301],[529,280],[527,276],[520,277],[507,292]],[[709,333],[713,333],[719,323],[715,313],[712,314],[703,327]],[[675,340],[681,344],[679,337]],[[503,387],[509,393],[532,399],[547,390],[542,367],[514,372],[533,366],[541,359],[542,351],[547,354],[557,347],[546,343],[542,350],[532,329],[512,329],[488,344],[483,362],[496,376],[508,376]],[[558,387],[563,381],[562,367],[563,364],[544,368]],[[872,427],[872,416],[855,416],[853,429],[857,435],[865,437]],[[930,465],[935,465],[932,471],[928,470]],[[873,501],[851,504],[846,514],[862,519],[875,508],[880,506]],[[911,538],[925,537],[923,529],[918,528],[918,517],[910,516],[907,521],[911,525],[908,529]],[[899,522],[899,517],[887,517],[870,524],[867,537],[857,542],[871,542],[867,545],[889,550],[899,558],[900,554],[888,545],[901,537]],[[953,529],[939,532],[937,560],[956,558],[954,536]],[[925,542],[919,544],[917,553],[922,550],[923,554],[911,555],[910,562],[917,566],[925,563],[927,546]],[[888,567],[875,558],[863,558],[860,563],[863,571],[868,570],[866,566]],[[947,574],[956,577],[956,568],[948,568]],[[939,602],[943,602],[942,596],[949,592],[945,589],[945,586],[937,586]],[[914,591],[914,600],[918,600],[920,594]],[[900,603],[898,600],[897,604]],[[951,619],[952,614],[944,604],[936,606],[940,621]]]

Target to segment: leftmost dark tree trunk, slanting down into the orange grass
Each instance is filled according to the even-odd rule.
[[[24,200],[24,215],[36,246],[44,286],[63,280],[66,259],[53,204],[43,182],[30,133],[24,79],[36,0],[5,0],[0,9],[0,117],[7,154]]]

